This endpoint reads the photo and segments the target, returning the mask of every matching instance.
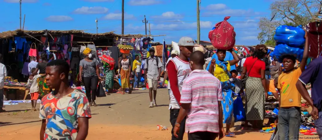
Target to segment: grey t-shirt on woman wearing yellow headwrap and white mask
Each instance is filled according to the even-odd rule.
[[[96,66],[98,66],[98,64],[99,63],[96,58],[93,58],[91,62],[88,62],[85,59],[82,59],[80,62],[80,66],[83,67],[84,77],[97,76]]]

